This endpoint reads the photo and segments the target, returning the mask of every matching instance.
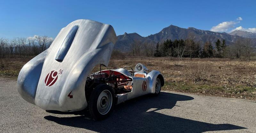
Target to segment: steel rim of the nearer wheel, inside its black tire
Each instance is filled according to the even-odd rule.
[[[101,115],[109,112],[112,106],[112,94],[109,90],[104,90],[100,93],[97,101],[97,108]]]

